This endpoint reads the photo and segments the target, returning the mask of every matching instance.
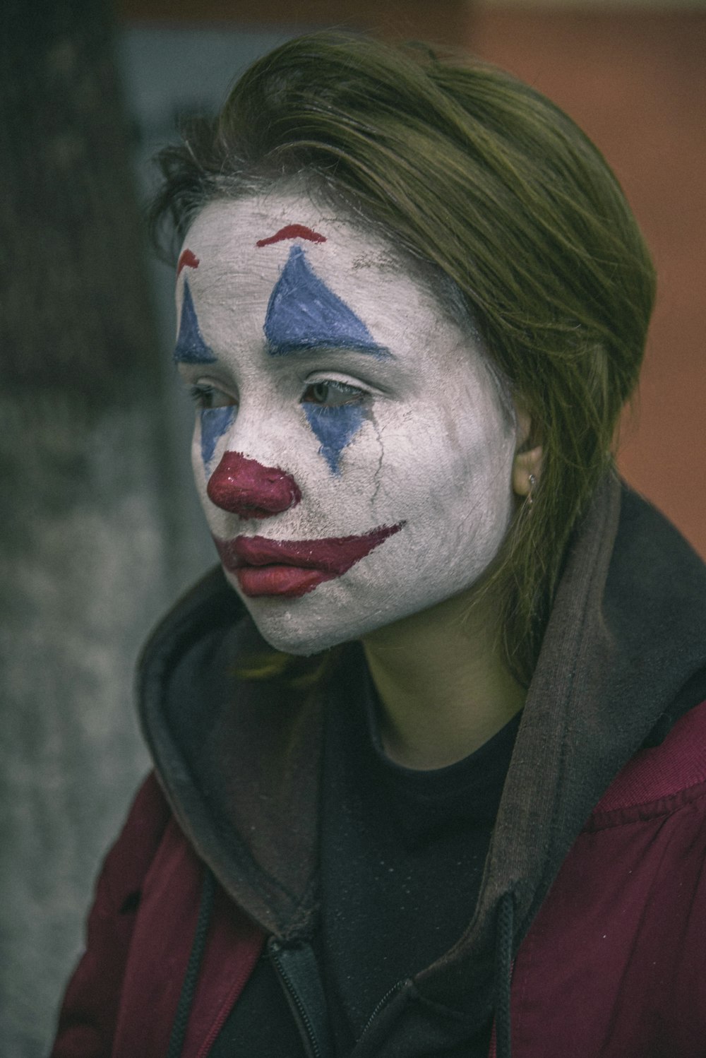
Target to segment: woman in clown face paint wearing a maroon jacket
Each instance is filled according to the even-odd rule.
[[[615,178],[508,75],[329,34],[162,165],[222,568],[146,649],[54,1055],[703,1055],[706,571],[613,467]]]

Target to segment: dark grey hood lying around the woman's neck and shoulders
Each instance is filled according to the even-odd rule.
[[[138,694],[184,833],[233,899],[287,942],[316,922],[323,714],[336,686],[238,675],[268,650],[218,568],[149,640]],[[611,781],[704,696],[706,566],[609,475],[568,550],[468,928],[382,1011],[380,1034],[403,1007],[406,1038],[424,1045],[434,1019],[448,1029],[471,1006],[489,1014],[501,899],[512,894],[516,950]]]

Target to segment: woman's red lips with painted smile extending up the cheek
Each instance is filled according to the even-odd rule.
[[[324,536],[319,540],[268,540],[236,536],[213,542],[221,562],[235,573],[243,595],[298,598],[323,581],[341,577],[360,559],[405,525],[379,526],[360,536]]]

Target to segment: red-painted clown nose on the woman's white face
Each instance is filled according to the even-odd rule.
[[[291,474],[277,467],[263,467],[240,452],[225,452],[208,479],[211,503],[242,518],[266,518],[296,507],[301,499]]]

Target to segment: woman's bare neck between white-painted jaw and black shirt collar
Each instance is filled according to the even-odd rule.
[[[383,746],[397,764],[454,764],[524,705],[502,658],[494,608],[470,589],[363,640],[383,706]]]

